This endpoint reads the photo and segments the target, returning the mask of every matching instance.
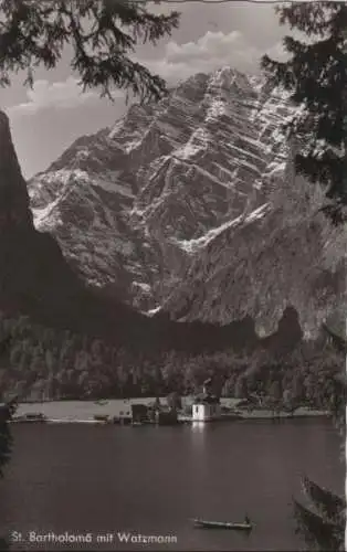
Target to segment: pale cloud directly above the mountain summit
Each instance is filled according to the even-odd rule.
[[[164,57],[141,60],[141,63],[167,79],[169,85],[174,85],[196,73],[209,73],[224,65],[245,73],[259,73],[260,60],[264,53],[265,51],[252,45],[240,31],[208,31],[196,42],[178,44],[170,41],[166,44]],[[267,49],[266,53],[276,59],[284,57],[281,43]]]

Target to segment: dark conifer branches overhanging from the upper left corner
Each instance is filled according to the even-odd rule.
[[[113,97],[113,87],[130,91],[141,100],[158,98],[166,84],[132,59],[135,46],[170,35],[179,14],[156,15],[136,0],[0,0],[0,85],[10,74],[54,68],[66,45],[71,67],[84,89],[99,88]]]

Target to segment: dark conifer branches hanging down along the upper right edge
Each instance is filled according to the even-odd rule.
[[[281,24],[306,38],[285,36],[288,60],[265,55],[261,65],[271,85],[284,87],[301,107],[287,126],[302,144],[296,171],[326,187],[324,211],[340,223],[347,205],[347,4],[292,2],[276,12]]]

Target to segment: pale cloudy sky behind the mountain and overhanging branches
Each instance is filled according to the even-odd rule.
[[[165,11],[164,6],[156,11]],[[167,7],[181,12],[179,29],[156,47],[140,46],[136,55],[169,84],[223,65],[254,73],[264,52],[281,55],[284,29],[272,6],[240,1]],[[66,51],[56,70],[36,72],[33,89],[23,87],[23,75],[15,75],[12,86],[0,91],[25,178],[44,170],[78,136],[111,126],[125,113],[120,93],[114,103],[97,92],[82,94],[69,63]]]

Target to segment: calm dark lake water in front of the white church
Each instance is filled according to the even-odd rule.
[[[299,550],[291,497],[307,474],[344,493],[339,438],[328,420],[175,427],[14,425],[1,481],[2,531],[13,550]],[[256,523],[246,537],[193,529],[191,518]],[[28,542],[91,533],[91,544]],[[177,542],[120,543],[117,533]],[[113,543],[96,542],[109,533]],[[134,539],[133,539],[134,540]]]

